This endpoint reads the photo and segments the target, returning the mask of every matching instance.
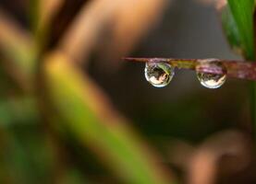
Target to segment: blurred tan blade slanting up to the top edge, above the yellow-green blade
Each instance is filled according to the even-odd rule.
[[[75,62],[86,61],[106,20],[115,12],[115,7],[116,3],[98,0],[84,5],[60,40],[58,48]]]

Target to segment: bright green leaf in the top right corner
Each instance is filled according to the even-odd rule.
[[[222,10],[223,27],[231,46],[254,60],[254,0],[228,0]]]

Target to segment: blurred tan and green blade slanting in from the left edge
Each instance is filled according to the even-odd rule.
[[[36,57],[36,48],[31,36],[1,9],[0,25],[0,52],[6,58],[6,64],[10,65],[13,74],[18,72],[24,81],[22,84],[26,84],[21,87],[31,90]]]

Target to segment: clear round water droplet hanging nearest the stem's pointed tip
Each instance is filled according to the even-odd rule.
[[[167,86],[174,75],[175,68],[168,63],[146,63],[145,77],[152,86]]]

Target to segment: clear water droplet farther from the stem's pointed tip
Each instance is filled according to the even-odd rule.
[[[216,61],[206,61],[206,63],[202,62],[199,66],[197,66],[197,70],[199,67],[203,68],[206,66],[211,67],[211,69],[214,69],[215,71],[222,71],[223,73],[226,73],[226,69],[222,66],[222,64]],[[197,76],[202,86],[211,89],[223,86],[224,83],[226,82],[226,74],[216,75],[197,72]]]

